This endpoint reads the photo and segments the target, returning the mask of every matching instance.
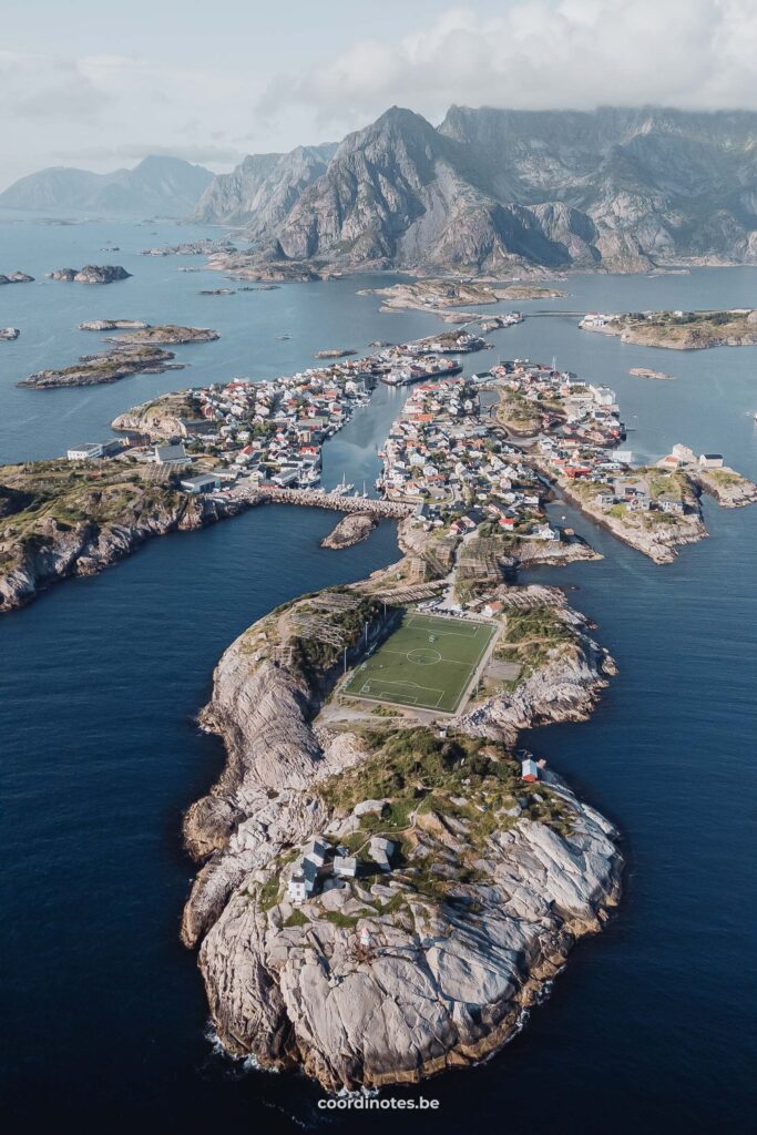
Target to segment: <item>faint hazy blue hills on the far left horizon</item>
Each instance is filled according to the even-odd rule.
[[[180,158],[144,158],[134,169],[112,174],[53,166],[15,182],[0,193],[0,205],[188,217],[212,180],[209,169]]]

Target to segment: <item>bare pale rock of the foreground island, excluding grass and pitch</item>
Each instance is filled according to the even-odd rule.
[[[529,591],[514,602],[555,602],[550,589]],[[390,760],[356,733],[313,723],[319,697],[275,661],[286,617],[262,620],[226,650],[201,715],[228,763],[185,819],[187,847],[205,863],[182,936],[201,943],[217,1033],[230,1052],[268,1068],[300,1066],[330,1090],[476,1062],[518,1031],[572,944],[602,927],[620,891],[616,833],[552,774],[516,799],[520,766],[497,742],[474,742],[489,749],[482,764],[449,773],[452,814],[409,816],[407,856],[420,866],[330,885],[293,907],[280,876],[297,847],[323,831],[358,846],[369,813],[376,831],[382,801],[353,807],[353,797],[362,800]],[[583,716],[612,672],[588,644],[570,674],[547,670],[518,704],[481,707],[452,726],[514,737],[536,721]],[[505,781],[493,782],[489,770]],[[504,812],[490,797],[489,807],[479,802],[491,783],[513,787]],[[485,819],[481,834],[486,814],[499,818]]]

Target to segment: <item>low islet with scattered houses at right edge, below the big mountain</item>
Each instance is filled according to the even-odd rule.
[[[741,347],[757,344],[757,311],[651,311],[639,314],[586,316],[584,331],[615,335],[623,343],[640,343],[673,351]],[[649,377],[649,376],[644,376]]]

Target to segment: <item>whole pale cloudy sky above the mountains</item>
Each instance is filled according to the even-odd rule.
[[[216,171],[399,104],[757,109],[757,0],[2,0],[0,187]]]

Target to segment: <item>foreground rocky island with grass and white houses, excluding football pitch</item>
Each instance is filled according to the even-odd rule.
[[[218,1036],[331,1091],[498,1050],[620,896],[612,826],[513,754],[606,684],[586,621],[556,589],[506,589],[488,689],[423,720],[345,695],[344,651],[359,667],[364,628],[372,648],[395,625],[392,574],[295,600],[228,648],[201,715],[228,763],[185,819],[203,866],[182,934]]]

